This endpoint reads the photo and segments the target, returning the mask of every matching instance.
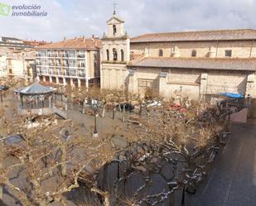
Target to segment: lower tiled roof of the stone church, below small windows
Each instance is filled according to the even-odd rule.
[[[178,58],[145,57],[136,63],[129,62],[130,67],[159,67],[183,69],[221,69],[221,70],[256,70],[256,58]]]

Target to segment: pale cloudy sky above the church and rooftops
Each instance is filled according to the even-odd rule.
[[[101,37],[113,0],[1,0],[40,5],[46,17],[0,15],[0,36],[61,41],[64,36]],[[149,32],[256,28],[256,0],[116,0],[129,36]]]

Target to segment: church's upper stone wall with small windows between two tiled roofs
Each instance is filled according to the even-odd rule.
[[[225,50],[232,50],[232,57],[256,57],[256,42],[254,41],[195,41],[195,42],[150,42],[131,43],[131,51],[146,56],[159,56],[159,49],[163,56],[173,56],[177,49],[180,57],[191,57],[192,50],[196,50],[197,57],[225,57]],[[211,51],[211,52],[210,52]],[[211,53],[211,54],[210,54]]]

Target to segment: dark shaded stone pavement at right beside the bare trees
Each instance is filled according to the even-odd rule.
[[[186,206],[256,205],[256,125],[234,123],[231,132],[208,180],[186,194]]]

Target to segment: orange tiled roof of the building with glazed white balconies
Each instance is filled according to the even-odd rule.
[[[101,40],[98,38],[87,39],[79,37],[70,40],[64,40],[46,44],[44,46],[37,46],[36,49],[86,49],[86,50],[99,50],[101,48]]]

